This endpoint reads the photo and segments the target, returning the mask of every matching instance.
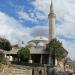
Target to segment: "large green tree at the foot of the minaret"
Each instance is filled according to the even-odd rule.
[[[47,44],[46,49],[50,53],[53,66],[55,66],[55,59],[61,60],[68,54],[68,52],[63,48],[62,43],[57,39],[51,40]]]

